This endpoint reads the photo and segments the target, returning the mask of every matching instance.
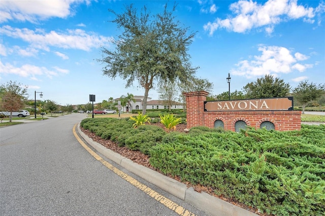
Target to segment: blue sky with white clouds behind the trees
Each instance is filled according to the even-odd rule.
[[[325,2],[323,1],[176,1],[174,15],[184,27],[197,31],[189,47],[197,77],[214,84],[211,94],[242,90],[265,74],[295,88],[300,81],[325,83]],[[85,104],[144,89],[125,88],[121,79],[103,76],[95,59],[100,46],[120,31],[109,22],[124,6],[146,6],[160,13],[166,1],[0,1],[0,82],[28,86],[29,99],[60,105]],[[174,2],[169,2],[169,8]],[[149,97],[158,99],[155,90]],[[41,99],[39,94],[37,99]]]

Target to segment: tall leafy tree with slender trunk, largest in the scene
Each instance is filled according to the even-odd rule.
[[[138,81],[144,88],[143,114],[146,112],[148,92],[157,82],[179,80],[185,82],[196,71],[189,61],[188,46],[196,32],[180,26],[167,4],[163,12],[150,16],[146,7],[138,14],[133,5],[117,14],[112,21],[122,30],[118,40],[112,41],[114,50],[102,47],[103,75],[112,79],[120,77],[125,87]]]

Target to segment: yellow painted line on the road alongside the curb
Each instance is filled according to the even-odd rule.
[[[141,191],[145,192],[146,194],[148,194],[150,197],[154,198],[155,200],[157,200],[161,204],[165,205],[169,209],[172,209],[173,211],[175,211],[179,215],[184,215],[184,216],[190,216],[190,215],[194,216],[195,215],[194,213],[188,211],[187,209],[183,208],[182,206],[178,205],[177,203],[173,202],[172,200],[168,199],[167,197],[157,193],[156,191],[152,190],[151,188],[149,188],[146,185],[144,185],[144,184],[140,183],[139,181],[137,181],[137,179],[133,178],[132,176],[129,176],[125,172],[119,170],[118,168],[116,168],[115,166],[110,164],[109,162],[105,161],[101,156],[99,156],[94,151],[92,151],[81,140],[81,138],[78,136],[78,134],[76,132],[76,127],[77,127],[77,124],[75,124],[75,126],[73,127],[73,134],[75,135],[76,139],[79,141],[80,145],[83,148],[85,148],[85,150],[87,150],[87,152],[89,152],[89,154],[92,155],[96,160],[100,161],[104,166],[106,166],[107,168],[112,170],[115,174],[122,177],[125,181],[132,184],[133,186],[140,189]]]

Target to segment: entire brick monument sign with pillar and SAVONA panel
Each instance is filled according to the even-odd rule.
[[[187,128],[221,127],[240,131],[246,126],[275,130],[300,130],[301,111],[294,111],[293,97],[206,101],[206,91],[186,96]]]

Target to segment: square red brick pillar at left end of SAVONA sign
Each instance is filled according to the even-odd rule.
[[[187,128],[203,126],[204,101],[209,92],[194,91],[183,93],[186,97]]]

